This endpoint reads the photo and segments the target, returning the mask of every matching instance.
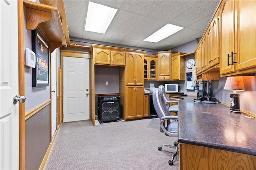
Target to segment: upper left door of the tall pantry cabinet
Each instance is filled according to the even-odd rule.
[[[126,54],[126,85],[135,85],[135,60],[136,55],[134,53]]]

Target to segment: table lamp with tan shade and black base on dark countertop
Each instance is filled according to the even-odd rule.
[[[244,91],[243,77],[228,77],[224,86],[224,90],[233,90],[233,93],[230,93],[230,112],[240,114],[240,94],[236,93],[236,91]]]

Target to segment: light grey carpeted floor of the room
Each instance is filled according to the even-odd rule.
[[[47,170],[178,170],[168,160],[176,151],[160,144],[173,144],[176,137],[160,132],[160,121],[142,119],[103,123],[64,123],[46,166]]]

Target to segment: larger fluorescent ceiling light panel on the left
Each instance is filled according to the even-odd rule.
[[[116,12],[117,9],[89,1],[84,30],[105,34]]]

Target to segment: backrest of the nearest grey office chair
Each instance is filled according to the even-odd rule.
[[[154,89],[152,96],[153,96],[153,105],[159,119],[161,120],[163,116],[169,116],[170,112],[164,101],[164,96],[162,91],[160,89]]]

